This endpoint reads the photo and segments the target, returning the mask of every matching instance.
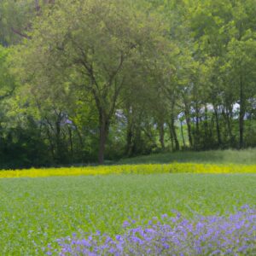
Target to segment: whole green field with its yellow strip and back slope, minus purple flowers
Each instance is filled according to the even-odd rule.
[[[114,236],[125,220],[142,224],[172,210],[193,218],[255,207],[255,155],[255,149],[184,152],[116,166],[1,171],[0,254],[41,255],[73,232]]]

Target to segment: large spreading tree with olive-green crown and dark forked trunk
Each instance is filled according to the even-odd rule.
[[[57,1],[34,22],[31,39],[20,50],[32,87],[84,91],[86,100],[95,104],[101,164],[119,95],[135,75],[134,63],[152,66],[170,50],[157,15],[145,15],[133,5],[132,1]]]

